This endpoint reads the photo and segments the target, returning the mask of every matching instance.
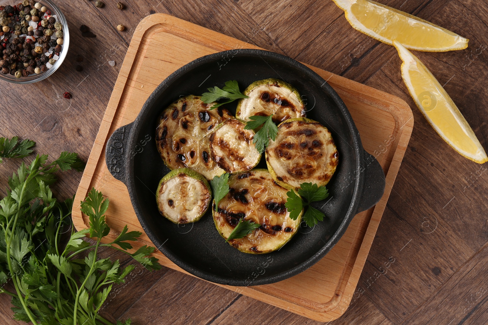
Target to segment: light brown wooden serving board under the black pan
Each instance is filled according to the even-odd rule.
[[[93,145],[73,207],[77,229],[88,228],[79,202],[95,187],[110,198],[107,223],[116,237],[124,225],[143,232],[125,185],[105,165],[105,145],[114,130],[139,114],[154,89],[171,73],[204,55],[230,49],[258,48],[187,21],[164,14],[139,23],[123,61],[102,124]],[[222,64],[225,63],[225,58]],[[386,201],[407,149],[413,115],[405,101],[330,72],[311,67],[342,97],[361,134],[363,146],[380,162],[386,189],[373,208],[357,214],[334,248],[317,264],[279,283],[254,287],[226,287],[305,317],[328,322],[341,316],[354,295]],[[148,144],[150,145],[150,144]],[[152,245],[143,233],[134,245]],[[186,273],[161,252],[155,255],[168,267]]]

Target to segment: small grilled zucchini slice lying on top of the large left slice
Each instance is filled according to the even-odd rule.
[[[254,145],[254,131],[244,130],[245,123],[228,118],[209,135],[210,156],[225,172],[246,172],[261,160]]]

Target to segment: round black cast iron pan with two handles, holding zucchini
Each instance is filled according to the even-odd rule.
[[[243,90],[253,81],[279,78],[306,100],[307,117],[332,133],[339,166],[328,183],[329,197],[313,206],[325,213],[313,229],[301,229],[282,249],[262,255],[232,248],[215,229],[211,212],[194,224],[175,225],[158,212],[155,191],[169,172],[154,140],[157,117],[180,96],[201,95],[206,88],[237,80]],[[232,114],[237,101],[224,105]],[[264,156],[264,155],[263,155]],[[205,280],[232,286],[264,285],[298,274],[319,261],[341,238],[352,217],[376,204],[385,175],[366,153],[346,105],[315,72],[283,55],[254,49],[200,57],[168,76],[149,96],[136,120],[116,130],[106,147],[106,163],[130,194],[142,228],[157,249],[184,270]],[[257,168],[266,168],[264,158]]]

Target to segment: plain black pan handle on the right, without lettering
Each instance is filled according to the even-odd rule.
[[[380,163],[371,154],[364,152],[366,161],[365,186],[361,201],[359,202],[358,213],[368,210],[374,206],[383,196],[385,191],[385,173]]]

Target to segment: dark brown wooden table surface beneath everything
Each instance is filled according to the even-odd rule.
[[[32,85],[0,83],[2,136],[37,141],[38,153],[76,151],[86,160],[134,28],[168,13],[226,35],[378,88],[407,101],[415,126],[351,306],[333,324],[488,323],[487,169],[455,153],[428,125],[408,95],[394,48],[353,30],[332,1],[61,1],[71,46],[56,74]],[[468,49],[415,52],[458,104],[488,148],[488,5],[482,1],[383,0],[470,40]],[[97,38],[82,38],[79,26]],[[124,24],[127,30],[118,32]],[[75,62],[80,54],[83,62]],[[109,60],[116,62],[112,67]],[[84,70],[77,72],[80,64]],[[62,98],[69,91],[71,100]],[[26,160],[28,160],[27,158]],[[0,165],[5,184],[19,160]],[[81,174],[54,187],[73,194]],[[3,186],[0,187],[3,190]],[[133,263],[112,250],[102,254]],[[380,272],[380,267],[383,271]],[[0,296],[1,324],[11,320]],[[192,276],[140,266],[113,289],[103,316],[133,324],[320,324]]]

